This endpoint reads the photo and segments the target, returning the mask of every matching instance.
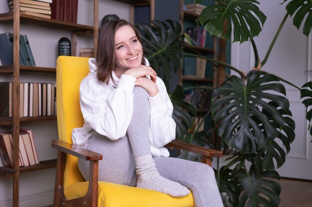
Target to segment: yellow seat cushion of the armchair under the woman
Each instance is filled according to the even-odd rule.
[[[67,199],[83,197],[89,182],[79,182],[64,190]],[[157,191],[99,182],[98,207],[194,207],[192,194],[174,198]]]

